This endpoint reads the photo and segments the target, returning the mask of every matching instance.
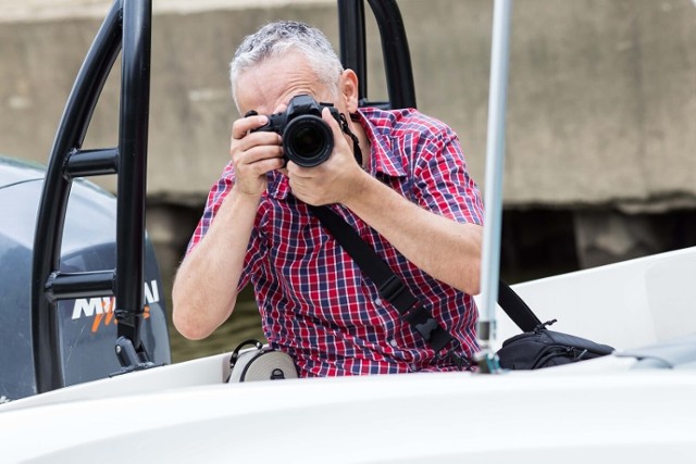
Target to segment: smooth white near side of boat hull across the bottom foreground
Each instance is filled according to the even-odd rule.
[[[626,371],[632,363],[611,356],[579,369],[220,384],[62,401],[0,414],[2,461],[694,462],[696,371]]]

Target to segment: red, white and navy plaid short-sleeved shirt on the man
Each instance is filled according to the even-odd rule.
[[[483,204],[457,135],[415,110],[362,109],[372,143],[370,172],[408,200],[459,223],[482,224]],[[234,183],[232,163],[209,193],[191,250]],[[419,294],[462,347],[476,350],[477,310],[471,296],[428,276],[341,205],[331,206]],[[247,248],[241,289],[251,283],[269,342],[295,358],[300,375],[335,376],[451,371],[424,339],[380,298],[377,288],[290,192],[269,174]],[[235,283],[229,283],[235,285]]]

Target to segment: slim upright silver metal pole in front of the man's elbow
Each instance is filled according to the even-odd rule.
[[[486,140],[484,237],[481,265],[482,304],[477,330],[481,344],[477,362],[481,372],[484,373],[499,371],[497,358],[492,352],[492,343],[496,338],[496,301],[500,274],[510,11],[511,0],[495,0]]]

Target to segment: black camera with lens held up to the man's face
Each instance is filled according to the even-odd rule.
[[[269,115],[269,122],[252,131],[273,131],[283,137],[286,161],[304,167],[316,166],[328,160],[334,151],[334,134],[322,120],[322,110],[328,108],[340,123],[340,113],[331,103],[318,103],[309,95],[293,97],[283,113]]]

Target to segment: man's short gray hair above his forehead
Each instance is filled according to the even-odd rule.
[[[270,23],[245,37],[229,63],[232,98],[237,103],[239,75],[263,61],[281,57],[288,50],[301,52],[318,79],[332,97],[338,98],[338,78],[344,67],[326,36],[315,27],[296,21]]]

